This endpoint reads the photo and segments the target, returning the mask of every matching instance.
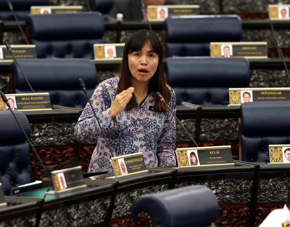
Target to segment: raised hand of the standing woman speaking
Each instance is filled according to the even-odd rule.
[[[128,102],[131,100],[133,93],[134,88],[129,87],[127,90],[124,90],[120,94],[116,95],[113,101],[113,105],[111,107],[112,118],[122,113],[122,111],[127,106]]]

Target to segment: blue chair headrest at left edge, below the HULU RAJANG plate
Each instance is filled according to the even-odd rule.
[[[17,120],[23,127],[28,138],[30,137],[30,127],[26,116],[16,110],[13,113],[15,114]],[[26,138],[21,131],[19,125],[11,114],[10,110],[0,111],[0,144],[15,144],[23,143],[26,141]]]

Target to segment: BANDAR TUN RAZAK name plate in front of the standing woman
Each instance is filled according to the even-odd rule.
[[[117,179],[148,172],[142,152],[113,157],[111,162]]]

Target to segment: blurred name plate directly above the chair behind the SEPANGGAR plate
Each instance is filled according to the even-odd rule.
[[[267,42],[212,42],[211,57],[268,58]]]

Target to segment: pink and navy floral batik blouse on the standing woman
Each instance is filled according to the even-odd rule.
[[[108,139],[114,156],[143,152],[147,167],[175,166],[175,118],[166,113],[155,112],[156,96],[152,92],[141,106],[126,108],[114,118],[111,106],[118,94],[119,77],[103,81],[90,98],[99,122]],[[176,112],[176,97],[172,88],[169,107]],[[86,141],[98,138],[88,172],[113,172],[111,154],[94,113],[87,103],[75,126],[75,138]]]

